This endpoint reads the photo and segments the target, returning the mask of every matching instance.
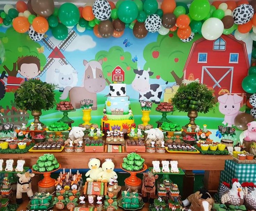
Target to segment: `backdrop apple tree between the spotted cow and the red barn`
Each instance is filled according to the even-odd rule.
[[[196,34],[193,41],[199,38],[200,35]],[[183,68],[192,44],[193,42],[181,42],[176,32],[158,35],[157,41],[148,44],[143,51],[146,60],[144,69],[150,68],[154,72],[152,77],[181,84]]]

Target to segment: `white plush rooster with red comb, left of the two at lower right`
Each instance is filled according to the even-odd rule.
[[[232,188],[230,184],[223,182],[219,188],[220,200],[223,204],[240,206],[245,201],[247,188],[242,188],[238,179],[232,179]]]

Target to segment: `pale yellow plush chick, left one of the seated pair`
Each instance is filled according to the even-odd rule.
[[[91,158],[88,162],[89,171],[86,172],[85,176],[87,182],[93,182],[97,181],[99,178],[99,174],[102,171],[102,168],[100,167],[100,160],[97,158]]]

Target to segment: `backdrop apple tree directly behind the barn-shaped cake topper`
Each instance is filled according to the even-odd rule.
[[[125,83],[131,84],[134,79],[133,69],[137,68],[137,62],[132,61],[132,55],[119,46],[113,46],[109,51],[99,51],[95,60],[103,59],[102,69],[106,79],[112,81],[112,71],[120,66],[125,71]]]

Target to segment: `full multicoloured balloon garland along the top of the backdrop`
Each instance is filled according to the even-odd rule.
[[[116,4],[107,0],[95,0],[92,6],[77,7],[63,3],[60,8],[53,0],[19,0],[16,9],[5,5],[0,11],[0,24],[26,33],[35,41],[51,30],[56,39],[67,38],[68,28],[77,31],[93,30],[95,36],[120,37],[125,28],[131,28],[135,37],[141,39],[148,32],[166,35],[177,31],[182,42],[193,40],[200,33],[207,40],[218,39],[222,34],[231,34],[237,40],[249,35],[256,41],[256,0],[229,0],[225,2],[193,0],[190,7],[175,0],[118,0]],[[252,29],[252,30],[251,30]],[[35,31],[38,37],[35,38]]]

